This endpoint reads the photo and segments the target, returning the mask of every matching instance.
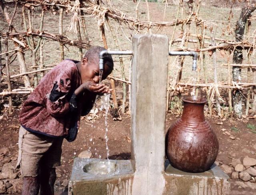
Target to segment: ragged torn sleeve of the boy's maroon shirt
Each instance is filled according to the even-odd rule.
[[[70,103],[67,99],[67,95],[70,93],[71,82],[71,75],[67,73],[61,73],[54,79],[52,89],[45,98],[47,111],[52,116],[61,117],[68,113]]]

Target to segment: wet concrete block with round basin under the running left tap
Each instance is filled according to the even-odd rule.
[[[115,164],[115,170],[110,174],[84,172],[86,165],[101,162],[108,160],[75,158],[68,195],[131,195],[134,171],[130,160],[110,160]]]

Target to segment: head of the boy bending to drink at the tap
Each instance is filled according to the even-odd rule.
[[[99,69],[99,55],[100,51],[104,50],[104,47],[93,47],[89,51],[87,51],[80,62],[80,75],[82,79],[82,83],[86,81],[92,81],[94,83],[99,83],[100,81],[100,69]],[[106,79],[106,77],[112,72],[114,68],[114,63],[111,55],[105,55],[104,57],[104,70],[102,79]]]

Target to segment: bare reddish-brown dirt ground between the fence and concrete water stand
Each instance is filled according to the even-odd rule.
[[[99,108],[99,105],[96,108]],[[178,115],[167,113],[166,132],[178,117]],[[254,119],[222,121],[212,116],[206,118],[219,140],[220,149],[216,160],[219,166],[231,163],[232,159],[242,159],[245,156],[256,158],[256,151],[252,147],[256,143],[256,121]],[[130,115],[125,114],[122,116],[122,120],[115,121],[112,115],[108,114],[110,159],[130,159],[130,119]],[[18,111],[11,116],[3,113],[0,119],[0,127],[2,135],[0,136],[0,148],[8,147],[11,151],[10,157],[15,162],[18,154]],[[92,158],[106,158],[104,135],[105,118],[103,111],[82,118],[77,139],[72,143],[65,140],[62,146],[62,165],[57,168],[56,191],[67,190],[66,186],[63,186],[63,181],[69,179],[73,160],[80,152],[90,150]],[[238,189],[238,186],[234,185],[235,181],[235,179],[231,180],[232,195],[250,195],[255,192],[252,189]]]

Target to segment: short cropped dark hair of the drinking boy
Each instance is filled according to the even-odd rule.
[[[100,61],[99,55],[100,55],[100,51],[102,50],[105,50],[105,48],[100,46],[92,47],[85,53],[84,57],[88,59],[88,63],[99,64],[99,61]],[[114,69],[114,62],[113,62],[112,56],[109,54],[104,56],[103,64],[107,65],[111,71]]]

